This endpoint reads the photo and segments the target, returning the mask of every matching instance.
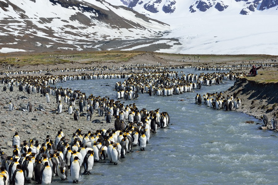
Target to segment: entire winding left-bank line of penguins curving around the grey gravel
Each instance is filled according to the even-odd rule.
[[[7,84],[8,87],[18,86],[19,91],[27,92],[27,94],[41,93],[46,103],[55,103],[56,100],[57,109],[50,111],[51,113],[67,112],[73,114],[74,120],[79,120],[80,116],[86,116],[86,120],[89,121],[92,114],[98,112],[99,116],[104,116],[107,123],[111,123],[112,116],[116,120],[115,129],[101,129],[95,133],[88,131],[86,134],[78,129],[71,139],[66,138],[63,131],[59,130],[55,140],[47,136],[41,144],[38,140],[34,143],[30,139],[29,142],[23,141],[21,145],[19,134],[16,132],[12,144],[13,155],[8,156],[0,148],[1,184],[21,185],[34,179],[39,184],[49,185],[53,177],[58,176],[61,180],[65,180],[68,175],[73,183],[78,183],[83,169],[83,174],[91,174],[94,162],[108,160],[116,165],[120,158],[133,152],[133,147],[138,146],[141,151],[144,151],[151,133],[155,133],[158,127],[165,128],[169,125],[168,113],[160,112],[159,109],[138,110],[135,103],[124,106],[120,101],[109,99],[109,97],[101,98],[93,95],[87,97],[80,90],[57,89],[48,86],[66,80],[94,79],[90,75],[2,78],[1,82]],[[97,78],[114,78],[115,75],[118,75],[118,78],[127,78],[128,75],[133,74],[99,74]],[[20,99],[28,98],[21,96]],[[68,106],[67,111],[63,108],[62,102]],[[33,109],[30,102],[27,107],[15,109],[10,101],[8,109],[27,112],[46,111],[41,106]],[[100,123],[100,120],[93,120],[93,122]]]

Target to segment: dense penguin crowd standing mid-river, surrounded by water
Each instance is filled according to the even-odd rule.
[[[220,85],[223,80],[234,80],[237,76],[244,75],[243,73],[201,73],[183,74],[178,77],[178,72],[163,71],[162,73],[138,74],[130,77],[124,82],[116,82],[115,90],[117,99],[137,99],[138,93],[148,93],[150,96],[171,96],[179,95],[184,92],[191,92],[192,89],[201,89],[202,85],[211,86],[214,84]]]

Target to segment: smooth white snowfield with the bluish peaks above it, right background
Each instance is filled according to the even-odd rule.
[[[107,1],[169,24],[181,45],[159,52],[278,55],[278,0]]]

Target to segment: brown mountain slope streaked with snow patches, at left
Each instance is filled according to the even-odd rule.
[[[167,48],[169,29],[102,0],[0,0],[0,52]]]

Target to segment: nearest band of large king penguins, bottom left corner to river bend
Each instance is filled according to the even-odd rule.
[[[136,111],[135,105],[133,108]],[[134,111],[128,115],[127,125],[125,118],[117,115],[115,129],[86,134],[77,129],[71,139],[66,138],[61,129],[53,140],[48,135],[44,143],[38,140],[34,143],[30,139],[23,141],[21,146],[19,133],[15,132],[13,155],[7,156],[0,148],[0,183],[24,185],[34,179],[39,184],[49,185],[54,177],[64,181],[68,175],[73,183],[78,183],[81,171],[83,175],[91,174],[94,162],[108,160],[116,165],[120,158],[133,152],[134,147],[144,151],[150,134],[156,132],[157,126],[165,128],[170,118],[167,112],[160,113],[159,109],[149,112],[142,109],[136,114]]]

